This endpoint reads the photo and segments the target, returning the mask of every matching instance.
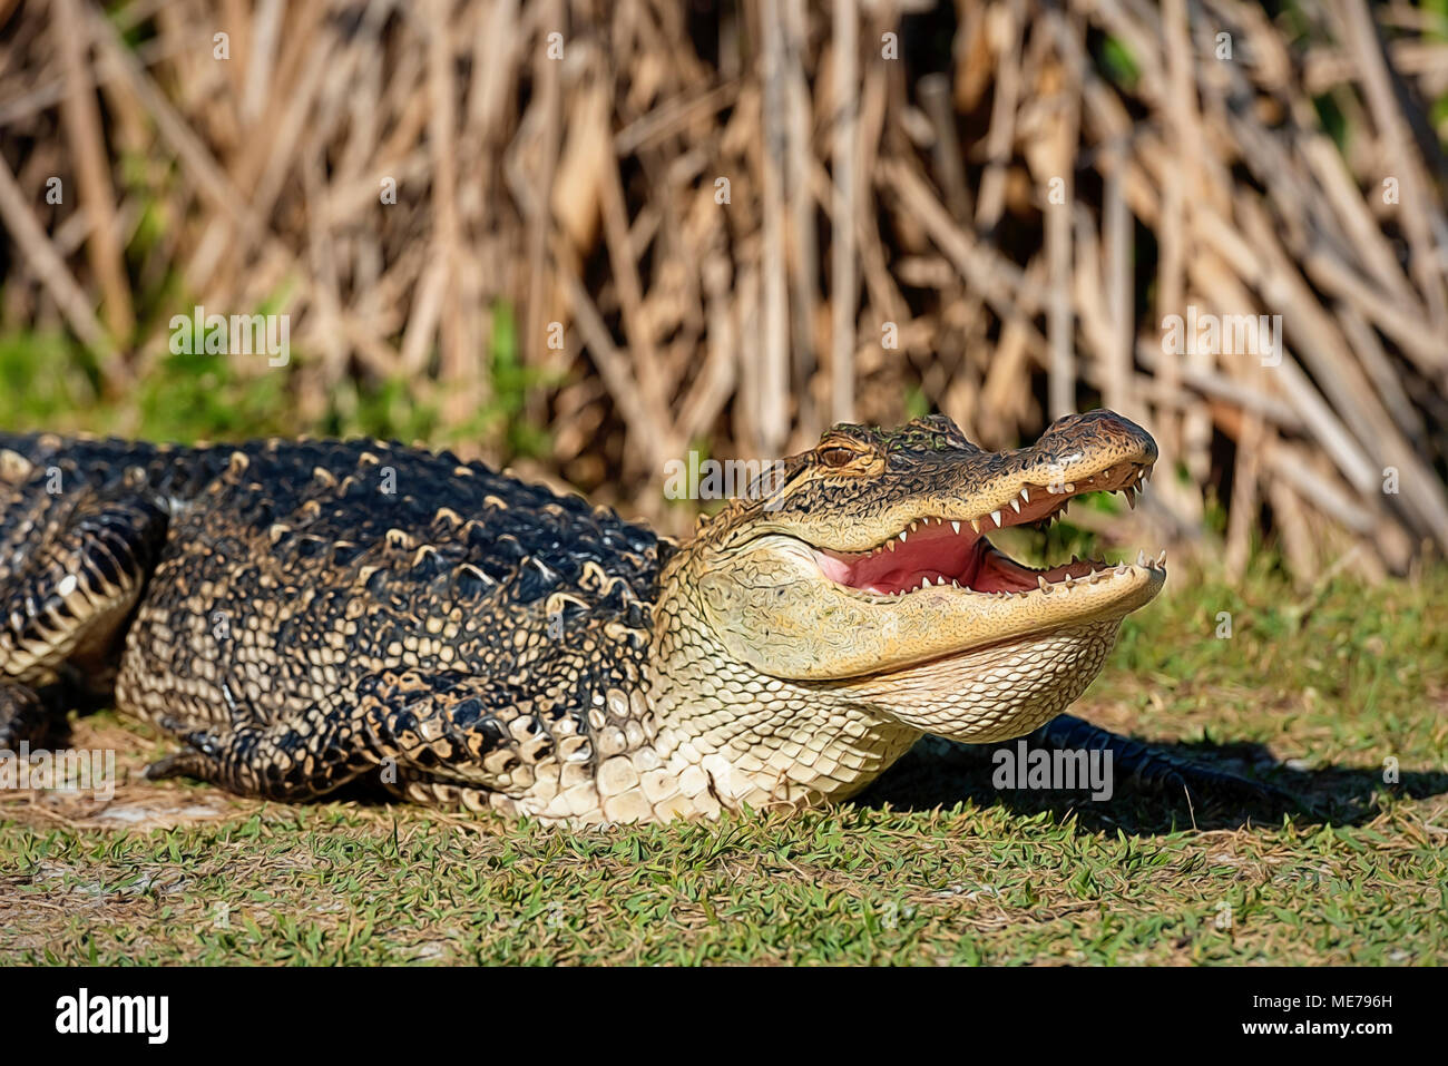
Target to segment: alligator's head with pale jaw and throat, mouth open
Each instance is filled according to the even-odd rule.
[[[1011,452],[982,450],[944,416],[893,432],[835,426],[701,523],[665,569],[654,662],[691,692],[666,717],[708,723],[728,705],[766,723],[710,726],[699,750],[743,750],[740,730],[767,747],[769,730],[854,721],[841,727],[866,734],[859,757],[919,733],[1031,731],[1096,676],[1121,618],[1160,591],[1166,559],[1034,569],[990,534],[1048,524],[1083,492],[1134,503],[1156,459],[1151,436],[1111,411],[1061,419]]]

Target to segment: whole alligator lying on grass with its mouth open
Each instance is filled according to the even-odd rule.
[[[148,778],[573,824],[843,801],[925,734],[1239,784],[1063,714],[1164,553],[1037,569],[988,536],[1134,505],[1156,459],[1102,410],[998,453],[840,424],[681,543],[400,443],[0,435],[0,747],[85,697],[180,742]]]

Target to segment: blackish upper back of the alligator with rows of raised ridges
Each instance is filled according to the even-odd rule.
[[[275,527],[275,556],[285,562],[323,553],[333,563],[356,562],[359,553],[349,549],[387,542],[388,534],[395,547],[413,540],[418,547],[432,545],[446,563],[471,563],[495,582],[513,582],[520,603],[576,587],[588,562],[623,578],[630,598],[652,603],[659,556],[672,550],[646,526],[579,495],[559,495],[481,462],[463,463],[450,452],[397,442],[185,448],[0,433],[0,450],[17,452],[42,469],[59,468],[62,484],[74,475],[88,485],[110,485],[139,468],[156,495],[182,510],[210,492],[224,504],[226,527]],[[314,569],[321,572],[320,565]],[[334,569],[327,572],[336,579]]]

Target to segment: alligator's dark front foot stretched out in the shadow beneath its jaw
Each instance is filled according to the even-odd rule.
[[[1303,801],[1274,785],[1183,759],[1161,747],[1122,737],[1072,714],[1061,714],[1031,739],[1045,747],[1111,752],[1118,779],[1161,795],[1182,794],[1193,802],[1255,801],[1305,808]]]

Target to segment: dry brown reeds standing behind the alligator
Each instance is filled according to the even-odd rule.
[[[0,0],[0,316],[135,432],[172,314],[287,313],[292,364],[237,372],[294,432],[401,382],[434,440],[672,527],[691,446],[1105,404],[1173,539],[1405,572],[1448,547],[1442,10]],[[1189,306],[1281,314],[1281,364],[1164,353]]]

